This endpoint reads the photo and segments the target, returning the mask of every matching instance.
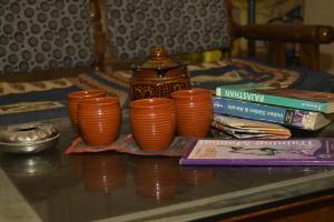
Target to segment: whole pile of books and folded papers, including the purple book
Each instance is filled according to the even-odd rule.
[[[213,127],[237,139],[198,139],[180,164],[334,165],[334,138],[291,139],[288,131],[289,127],[318,130],[327,125],[334,93],[256,84],[218,87],[214,111]]]

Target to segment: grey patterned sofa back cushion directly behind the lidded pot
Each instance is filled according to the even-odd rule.
[[[148,56],[155,46],[169,54],[229,46],[225,0],[107,0],[108,47],[120,59]]]

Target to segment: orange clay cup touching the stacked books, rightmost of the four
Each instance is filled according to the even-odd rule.
[[[205,138],[213,121],[212,93],[206,89],[179,90],[170,93],[175,101],[176,129],[179,135]]]

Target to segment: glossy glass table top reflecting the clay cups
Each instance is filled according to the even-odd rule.
[[[69,120],[48,122],[60,131],[56,148],[0,154],[1,169],[42,221],[200,219],[334,188],[334,170],[325,167],[181,167],[178,158],[114,151],[67,155],[76,138]]]

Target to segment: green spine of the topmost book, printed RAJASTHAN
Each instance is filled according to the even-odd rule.
[[[314,102],[314,101],[307,101],[307,100],[287,98],[287,97],[278,97],[273,94],[256,93],[256,92],[238,90],[238,89],[227,89],[227,88],[218,87],[216,89],[216,95],[244,100],[244,101],[250,101],[250,102],[257,102],[257,103],[326,112],[326,104],[321,102]]]

